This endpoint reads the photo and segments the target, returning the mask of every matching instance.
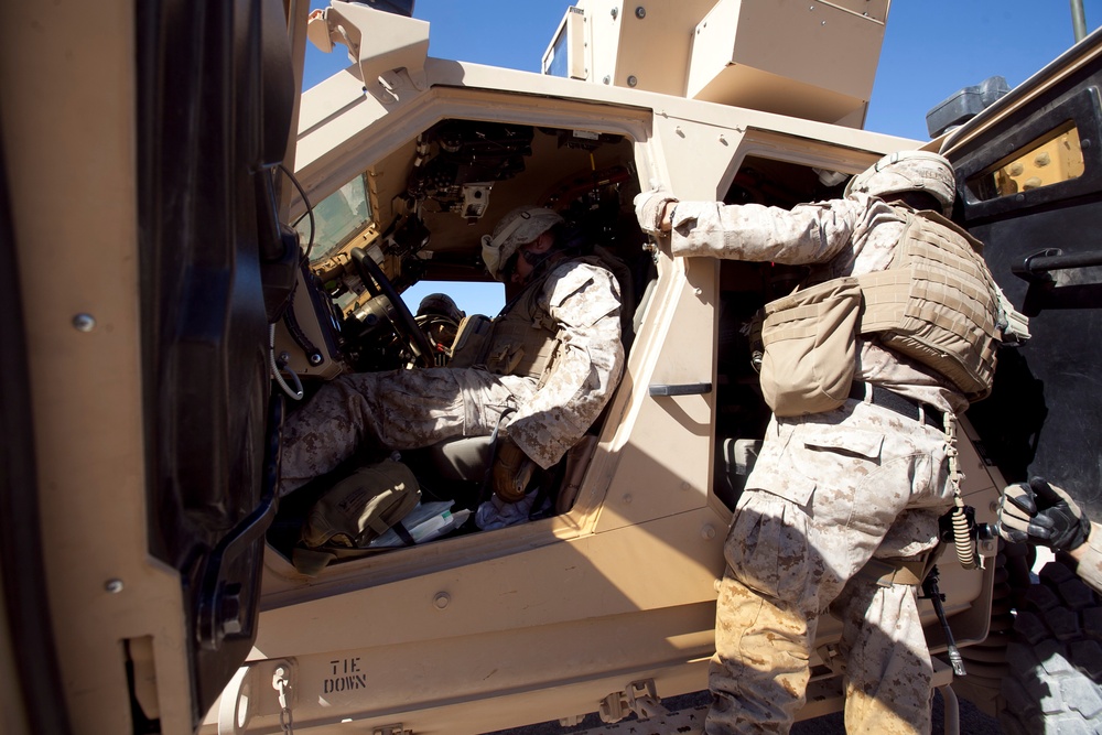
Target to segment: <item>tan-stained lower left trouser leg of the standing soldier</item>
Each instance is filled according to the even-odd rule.
[[[716,602],[705,733],[788,733],[804,702],[808,641],[802,615],[754,592],[728,570]]]

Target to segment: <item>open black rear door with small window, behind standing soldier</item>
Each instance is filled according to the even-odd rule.
[[[958,214],[1031,338],[1000,352],[969,411],[1008,482],[1041,475],[1102,510],[1102,35],[1094,33],[950,134]]]

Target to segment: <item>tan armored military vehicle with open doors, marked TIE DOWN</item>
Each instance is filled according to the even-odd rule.
[[[656,184],[791,206],[887,152],[942,150],[957,218],[1033,317],[963,422],[975,523],[1031,473],[1096,493],[1102,39],[919,142],[861,129],[887,0],[672,4],[571,8],[545,75],[428,57],[411,2],[4,7],[6,732],[485,733],[704,689],[767,419],[743,326],[802,273],[671,258],[631,212]],[[299,95],[307,35],[352,65]],[[836,53],[803,64],[809,43]],[[277,497],[283,419],[348,371],[446,365],[455,320],[401,294],[489,282],[479,237],[520,204],[624,263],[627,369],[602,420],[526,522],[455,522],[484,497],[485,446],[428,447],[401,461],[454,528],[296,566],[326,479]],[[939,566],[969,674],[939,659],[936,681],[950,704],[979,682],[995,711],[1028,560],[966,536],[982,568]],[[1042,617],[1078,641],[1096,609],[1054,587],[1025,595],[1046,615],[1018,661],[1059,655]],[[820,625],[803,717],[841,705],[840,633]],[[1079,671],[1046,666],[1020,701]]]

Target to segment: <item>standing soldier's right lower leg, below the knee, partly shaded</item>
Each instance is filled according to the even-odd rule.
[[[917,588],[879,586],[858,576],[843,597],[845,732],[929,733],[933,669],[918,616]]]

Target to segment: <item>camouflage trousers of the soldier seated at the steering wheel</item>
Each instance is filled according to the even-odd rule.
[[[411,450],[485,436],[536,391],[536,378],[475,368],[360,372],[333,380],[283,425],[280,495],[364,447]]]

